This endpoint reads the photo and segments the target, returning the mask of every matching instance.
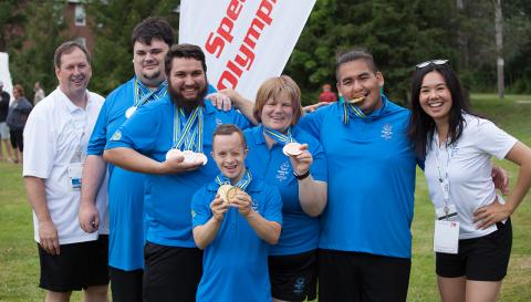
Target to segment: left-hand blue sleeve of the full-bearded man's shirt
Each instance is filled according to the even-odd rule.
[[[105,149],[126,147],[142,154],[153,150],[157,143],[157,135],[160,133],[160,110],[162,106],[139,107],[131,118],[127,119],[111,137]]]

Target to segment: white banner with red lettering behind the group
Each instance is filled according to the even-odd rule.
[[[282,73],[313,4],[315,0],[181,0],[179,43],[201,46],[210,84],[254,101],[262,82]]]

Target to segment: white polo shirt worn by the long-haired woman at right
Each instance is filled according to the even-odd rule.
[[[426,155],[424,174],[429,197],[434,206],[440,208],[445,204],[439,184],[439,169],[442,178],[448,169],[449,202],[457,208],[459,239],[469,239],[497,230],[496,225],[485,230],[477,229],[473,212],[480,207],[490,205],[497,197],[491,177],[491,156],[504,158],[518,140],[490,121],[468,114],[464,116],[466,125],[462,135],[452,146],[447,147],[442,144],[438,147],[435,133],[431,148]],[[504,204],[504,200],[500,199],[499,202]]]

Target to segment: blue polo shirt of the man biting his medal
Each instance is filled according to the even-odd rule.
[[[321,249],[412,257],[416,158],[407,138],[409,111],[382,98],[382,108],[368,118],[351,114],[346,125],[342,102],[299,122],[326,154]]]

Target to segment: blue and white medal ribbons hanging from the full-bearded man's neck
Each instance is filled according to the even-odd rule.
[[[196,107],[188,118],[183,108],[175,106],[173,147],[202,153],[202,106]]]

